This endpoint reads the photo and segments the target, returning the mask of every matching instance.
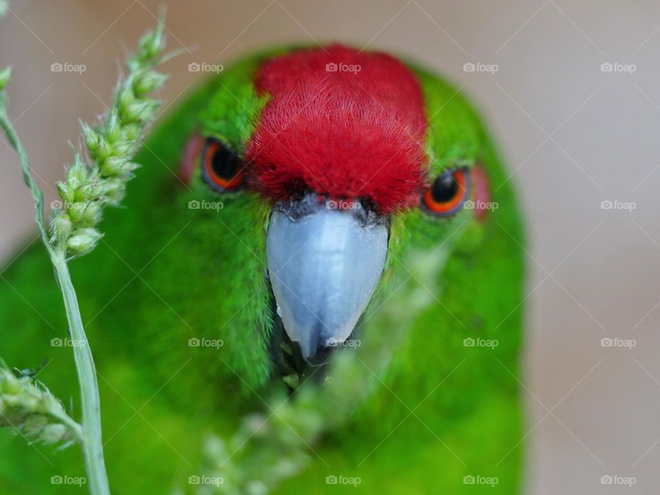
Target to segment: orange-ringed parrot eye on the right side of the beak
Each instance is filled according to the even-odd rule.
[[[470,173],[466,168],[447,170],[424,192],[423,208],[437,217],[450,217],[463,208],[470,192]]]

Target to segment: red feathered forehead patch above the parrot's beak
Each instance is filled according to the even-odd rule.
[[[254,186],[272,199],[310,189],[406,206],[423,183],[426,115],[410,69],[380,53],[334,45],[267,61],[255,85],[268,94],[248,145]]]

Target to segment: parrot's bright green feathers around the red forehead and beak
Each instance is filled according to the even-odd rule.
[[[266,55],[209,80],[164,120],[140,155],[126,208],[107,213],[98,248],[71,263],[99,373],[106,462],[113,494],[168,494],[190,487],[203,439],[230,437],[284,388],[270,359],[273,315],[265,272],[270,206],[252,192],[219,196],[197,170],[175,178],[190,135],[201,129],[241,151],[265,100],[252,73]],[[463,210],[434,219],[414,209],[393,219],[386,272],[364,317],[362,340],[395,329],[393,358],[340,428],[310,452],[311,465],[277,493],[462,494],[519,491],[522,230],[514,195],[482,124],[456,89],[414,69],[430,116],[434,173],[452,164],[487,170],[499,208],[483,223]],[[500,187],[500,184],[503,184]],[[27,194],[27,192],[26,192]],[[189,201],[222,201],[195,210]],[[1,272],[0,356],[39,375],[53,393],[78,386],[52,268],[39,241]],[[222,340],[219,349],[190,338]],[[498,346],[465,347],[465,338]],[[376,374],[380,370],[376,370]],[[318,386],[318,384],[311,384]],[[76,448],[30,447],[0,430],[0,492],[71,493],[53,475],[83,476]],[[318,455],[317,455],[318,454]],[[360,476],[329,487],[326,476]],[[492,489],[464,476],[496,476]],[[83,488],[84,489],[84,488]]]

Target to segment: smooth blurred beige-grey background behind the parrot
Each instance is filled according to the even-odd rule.
[[[190,62],[227,64],[264,45],[316,40],[405,54],[464,85],[498,137],[527,218],[525,493],[656,494],[660,4],[167,3],[169,46],[184,48],[166,67],[168,100],[199,76],[188,72]],[[133,45],[158,6],[16,0],[1,21],[0,65],[14,66],[10,113],[49,201],[71,157],[67,140],[78,139],[78,118],[94,120],[104,109],[99,99],[108,102],[122,41]],[[86,70],[52,72],[52,63]],[[465,72],[465,63],[498,71]],[[613,70],[602,71],[604,63]],[[34,228],[17,161],[1,143],[0,164],[0,257],[7,259]],[[607,200],[633,201],[635,209],[602,209]],[[636,346],[602,347],[602,338]],[[636,483],[602,485],[606,475]]]

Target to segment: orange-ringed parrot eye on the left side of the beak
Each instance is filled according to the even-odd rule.
[[[221,142],[208,139],[201,151],[201,174],[219,192],[235,190],[243,184],[243,162]]]

